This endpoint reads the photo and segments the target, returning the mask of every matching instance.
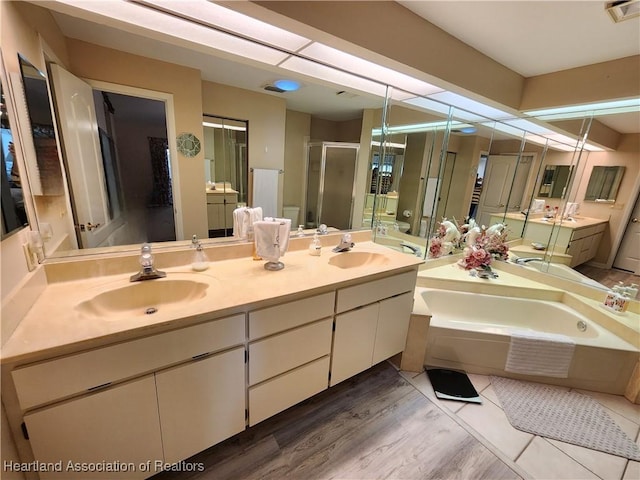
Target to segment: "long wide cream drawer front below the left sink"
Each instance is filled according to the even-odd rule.
[[[11,372],[23,409],[242,344],[244,314],[97,348]]]

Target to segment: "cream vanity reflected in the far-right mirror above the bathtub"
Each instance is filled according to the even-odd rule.
[[[559,219],[545,220],[542,214],[526,219],[521,213],[507,213],[505,216],[492,215],[491,225],[496,223],[505,223],[511,232],[510,237],[522,233],[524,242],[555,244],[554,252],[570,255],[569,266],[575,267],[596,256],[609,222],[588,217],[560,222]]]

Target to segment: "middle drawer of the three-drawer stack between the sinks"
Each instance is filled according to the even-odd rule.
[[[331,318],[249,344],[249,385],[331,352]]]

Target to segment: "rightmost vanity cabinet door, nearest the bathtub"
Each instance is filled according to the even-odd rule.
[[[380,302],[376,341],[373,348],[373,365],[404,350],[412,308],[413,292],[403,293]]]

